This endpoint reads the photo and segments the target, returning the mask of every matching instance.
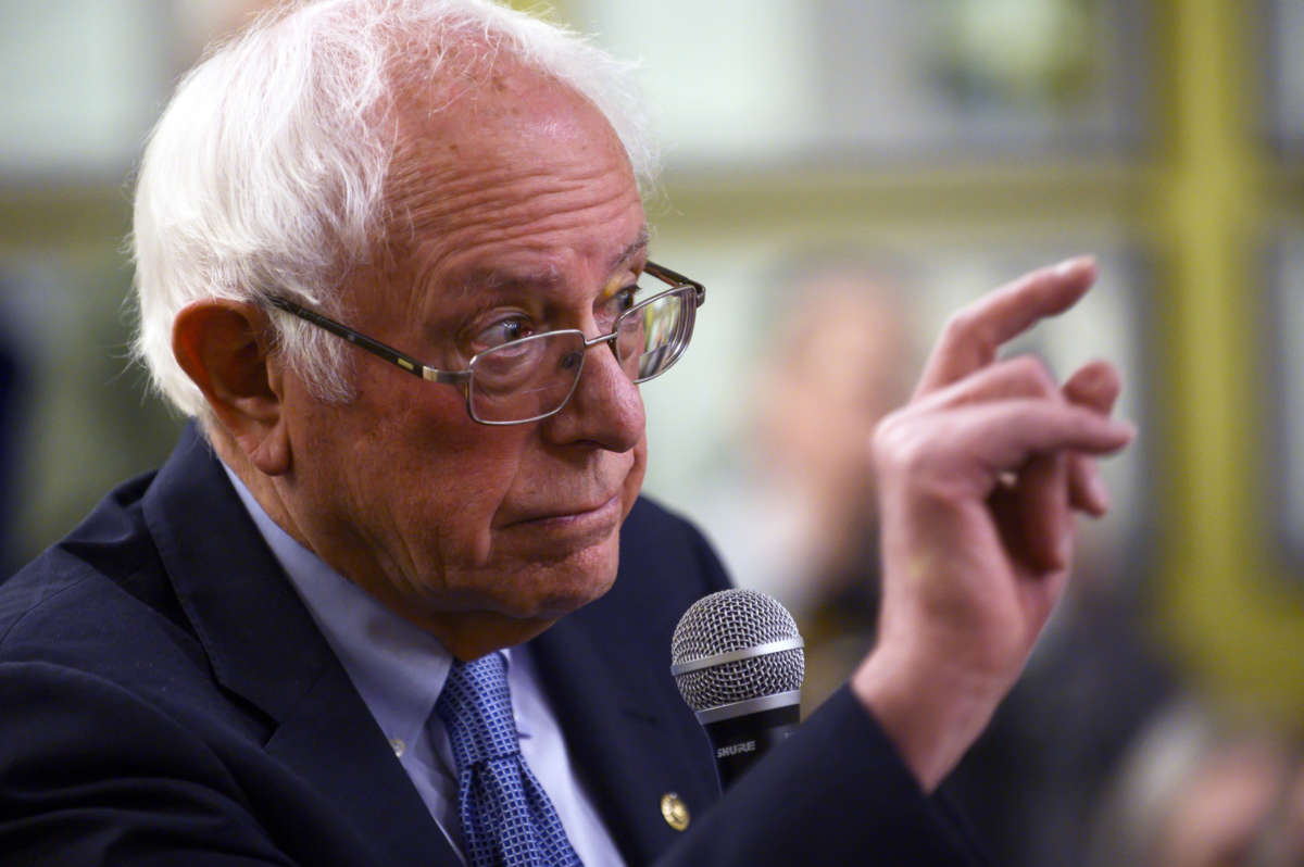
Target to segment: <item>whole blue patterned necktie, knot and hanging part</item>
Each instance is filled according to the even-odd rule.
[[[471,867],[541,867],[580,860],[557,810],[526,767],[501,653],[454,660],[434,705],[458,763],[458,812]]]

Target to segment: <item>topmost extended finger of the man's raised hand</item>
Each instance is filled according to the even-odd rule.
[[[1025,274],[964,308],[928,356],[915,398],[987,366],[1003,344],[1073,306],[1094,282],[1095,259],[1081,256]]]

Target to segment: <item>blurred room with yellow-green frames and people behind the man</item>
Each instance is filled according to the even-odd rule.
[[[125,361],[130,175],[177,76],[259,5],[0,0],[7,571],[180,426]],[[1119,362],[1141,437],[948,786],[1000,863],[1304,863],[1304,3],[540,14],[642,60],[653,257],[709,289],[644,390],[647,490],[793,608],[806,707],[874,640],[876,419],[948,312],[1094,253],[1093,295],[1016,349]]]

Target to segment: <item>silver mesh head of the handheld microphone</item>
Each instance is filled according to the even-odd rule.
[[[801,638],[793,615],[758,591],[732,589],[694,602],[670,639],[670,662],[682,665],[771,641]],[[695,712],[802,688],[802,648],[712,665],[675,675],[679,695]]]

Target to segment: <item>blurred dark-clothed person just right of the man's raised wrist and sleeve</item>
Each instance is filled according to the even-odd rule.
[[[1091,540],[1099,542],[1099,540]],[[1094,817],[1134,738],[1178,690],[1145,593],[1081,548],[1073,583],[991,726],[947,781],[1000,863],[1088,867]],[[1004,780],[1005,785],[999,785]]]

